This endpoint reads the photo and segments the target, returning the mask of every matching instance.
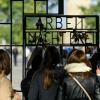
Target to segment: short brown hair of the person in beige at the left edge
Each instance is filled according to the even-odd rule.
[[[10,56],[5,50],[0,49],[0,73],[3,71],[5,75],[11,71]]]

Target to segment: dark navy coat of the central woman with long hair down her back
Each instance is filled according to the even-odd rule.
[[[43,88],[42,72],[35,73],[31,81],[31,86],[28,94],[28,100],[55,100],[57,95],[57,87],[63,79],[64,70],[54,70],[55,81],[52,86],[46,90]]]

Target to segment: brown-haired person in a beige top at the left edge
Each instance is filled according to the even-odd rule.
[[[0,49],[0,100],[20,100],[7,75],[11,71],[9,54]]]

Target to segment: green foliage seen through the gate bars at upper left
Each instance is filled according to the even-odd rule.
[[[13,44],[22,44],[23,39],[23,11],[24,13],[34,13],[34,0],[24,0],[24,10],[22,1],[12,1],[12,19],[11,19],[11,2],[12,0],[0,0],[0,23],[10,23],[12,20],[12,42]],[[57,0],[55,0],[57,1]],[[45,13],[45,2],[37,2],[37,13]],[[28,22],[32,25],[34,20]],[[1,24],[2,25],[2,24]],[[9,27],[8,27],[9,26]],[[11,43],[11,25],[5,28],[0,27],[0,43],[4,38],[7,43]]]

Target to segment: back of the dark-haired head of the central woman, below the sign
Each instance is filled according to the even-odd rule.
[[[55,46],[47,47],[44,53],[43,66],[52,69],[58,63],[60,63],[58,49]]]

